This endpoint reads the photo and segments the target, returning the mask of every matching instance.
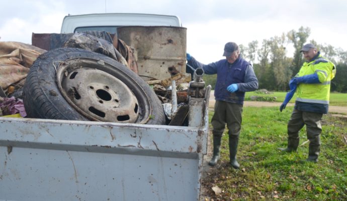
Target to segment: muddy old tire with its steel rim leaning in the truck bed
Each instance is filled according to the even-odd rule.
[[[71,77],[73,79],[78,73],[86,73],[91,79],[93,79],[93,73],[95,73],[99,77],[108,77],[108,81],[94,78],[93,81],[97,82],[97,84],[93,85],[95,84],[94,82],[88,83],[89,79],[83,79],[80,76],[82,81],[78,82],[79,85],[76,87],[84,89],[90,87],[88,88],[90,94],[78,94],[78,91],[71,92],[68,89],[68,87],[75,89],[74,86],[71,87],[70,85],[76,83],[70,82],[69,79]],[[106,83],[104,84],[103,82]],[[116,85],[112,86],[115,83]],[[106,85],[106,88],[96,90],[94,87],[102,87],[103,84]],[[118,88],[126,90],[126,95],[123,94],[123,97],[122,95],[117,95],[122,92],[118,91],[117,93]],[[93,91],[96,91],[96,93],[94,94]],[[101,93],[98,94],[98,92]],[[23,93],[24,106],[29,118],[159,125],[164,124],[165,121],[160,100],[149,85],[137,74],[105,55],[78,48],[59,48],[40,55],[30,68]],[[116,95],[117,98],[114,98],[113,95]],[[133,107],[135,105],[135,108],[132,109],[134,111],[127,108],[122,109],[122,106],[129,102],[127,99],[129,97],[126,96],[134,97],[131,98],[131,102],[134,102],[134,104],[129,106]],[[88,99],[88,101],[84,101],[83,98]],[[83,101],[79,101],[80,99]],[[105,105],[99,106],[101,104],[96,103],[97,100],[102,104],[109,102],[108,105],[110,107],[106,108]],[[113,100],[117,100],[117,105],[112,105],[113,103],[111,102]],[[84,104],[80,104],[81,102]],[[89,107],[85,102],[93,104],[93,107]],[[88,110],[88,107],[89,109],[97,108],[97,113],[93,110]],[[123,113],[124,110],[132,113],[132,120],[129,117],[124,118],[129,116],[127,114],[122,114],[122,118],[118,119],[108,116],[108,114],[114,114],[117,111]],[[99,115],[100,112],[103,115]]]

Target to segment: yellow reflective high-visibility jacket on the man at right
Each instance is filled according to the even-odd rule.
[[[327,58],[320,56],[318,52],[318,55],[312,61],[303,64],[295,77],[313,73],[317,73],[320,83],[300,83],[296,90],[296,100],[304,103],[329,105],[330,81],[336,74],[335,65]]]

